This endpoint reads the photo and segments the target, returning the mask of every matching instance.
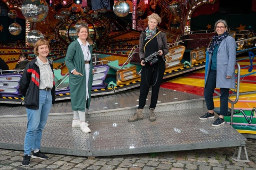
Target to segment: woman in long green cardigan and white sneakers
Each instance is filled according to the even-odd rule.
[[[91,132],[85,122],[85,110],[89,109],[93,81],[92,39],[87,25],[77,28],[77,40],[69,46],[66,65],[69,70],[71,108],[74,112],[72,127],[80,127],[85,133]]]

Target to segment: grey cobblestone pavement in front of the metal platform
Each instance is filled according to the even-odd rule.
[[[256,169],[256,140],[248,139],[246,149],[250,163],[231,159],[235,147],[230,147],[95,158],[46,154],[50,159],[31,158],[30,166],[26,167],[21,166],[22,151],[0,149],[0,169]]]

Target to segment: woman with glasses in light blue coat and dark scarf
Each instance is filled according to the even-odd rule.
[[[218,20],[214,25],[216,35],[213,36],[209,52],[209,62],[206,62],[204,98],[208,112],[200,120],[214,118],[213,93],[215,88],[220,88],[220,116],[212,126],[225,123],[224,116],[228,114],[229,89],[236,88],[235,64],[236,41],[229,36],[228,25],[225,20]]]

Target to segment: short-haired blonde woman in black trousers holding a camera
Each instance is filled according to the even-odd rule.
[[[148,27],[145,31],[142,31],[140,35],[140,64],[143,67],[141,71],[139,107],[137,112],[134,113],[131,118],[129,118],[128,122],[135,122],[143,119],[142,111],[146,104],[150,86],[152,87],[152,94],[149,106],[149,120],[151,122],[156,120],[154,110],[158,99],[159,88],[164,77],[165,54],[168,53],[166,35],[165,33],[159,31],[156,27],[160,22],[161,18],[158,14],[153,13],[149,15]],[[155,64],[150,63],[150,61],[145,62],[145,58],[155,52],[158,53],[158,62]]]

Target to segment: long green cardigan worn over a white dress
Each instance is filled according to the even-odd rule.
[[[90,73],[89,82],[86,84],[86,74],[85,74],[85,63],[82,48],[77,40],[73,41],[69,46],[66,54],[66,65],[69,70],[69,87],[70,87],[70,98],[71,98],[71,108],[73,111],[85,111],[85,107],[89,109],[91,103],[91,89],[92,89],[92,45],[89,46],[91,53],[90,62]],[[70,71],[76,69],[77,72],[82,73],[81,75],[71,74]],[[86,86],[88,86],[88,93],[90,98],[87,99],[86,104]],[[86,106],[85,106],[86,105]]]

